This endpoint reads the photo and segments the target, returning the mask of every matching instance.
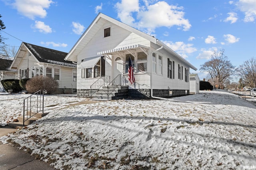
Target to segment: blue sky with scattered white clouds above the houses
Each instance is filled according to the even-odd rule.
[[[215,49],[235,66],[256,57],[256,0],[0,0],[0,33],[9,46],[24,41],[68,53],[99,12],[168,45],[200,80]]]

